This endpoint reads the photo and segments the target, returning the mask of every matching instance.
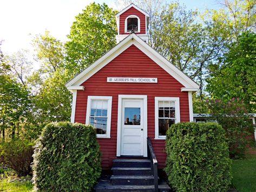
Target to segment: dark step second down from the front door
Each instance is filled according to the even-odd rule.
[[[113,175],[152,175],[148,167],[113,167],[112,171]]]

